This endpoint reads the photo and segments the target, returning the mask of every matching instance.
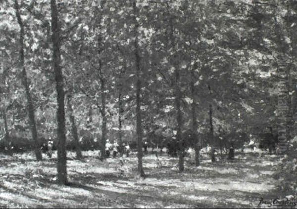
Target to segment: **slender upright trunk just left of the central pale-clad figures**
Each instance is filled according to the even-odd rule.
[[[105,100],[106,100],[106,93],[105,93],[105,80],[102,78],[101,81],[101,116],[102,116],[102,126],[101,126],[101,132],[102,132],[102,138],[101,138],[101,159],[105,159],[105,146],[106,146],[106,134],[107,134],[107,118],[106,118],[106,112],[105,112]]]

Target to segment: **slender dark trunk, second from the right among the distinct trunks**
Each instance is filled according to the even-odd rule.
[[[198,139],[198,124],[197,124],[197,114],[196,114],[196,101],[195,101],[195,85],[194,85],[194,70],[192,70],[192,79],[191,79],[191,96],[192,96],[192,135],[195,138],[195,166],[199,166],[199,152],[200,152],[200,143]]]

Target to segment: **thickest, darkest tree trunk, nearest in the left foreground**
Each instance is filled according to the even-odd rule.
[[[65,105],[64,105],[64,83],[63,74],[60,67],[60,28],[58,25],[58,10],[55,0],[50,0],[51,9],[51,40],[53,47],[52,65],[55,74],[56,91],[57,91],[57,134],[58,134],[58,182],[60,184],[67,184],[67,159],[66,159],[66,134],[65,134]]]

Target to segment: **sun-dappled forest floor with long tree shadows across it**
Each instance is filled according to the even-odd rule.
[[[35,161],[33,153],[0,154],[1,208],[258,208],[260,198],[271,200],[272,175],[280,156],[241,153],[233,162],[199,167],[186,159],[178,172],[177,158],[153,154],[143,158],[147,178],[137,175],[137,157],[98,159],[98,151],[83,152],[82,161],[67,154],[70,184],[56,183],[56,154]]]

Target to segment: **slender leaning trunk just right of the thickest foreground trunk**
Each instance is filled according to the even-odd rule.
[[[75,146],[75,152],[76,152],[76,158],[78,160],[82,159],[82,151],[79,145],[79,139],[78,139],[78,131],[77,131],[77,126],[75,123],[75,117],[73,115],[73,108],[71,106],[71,95],[67,96],[67,106],[68,106],[68,115],[69,115],[69,121],[71,124],[71,133],[72,133],[72,137],[73,137],[73,142],[74,142],[74,146]]]

